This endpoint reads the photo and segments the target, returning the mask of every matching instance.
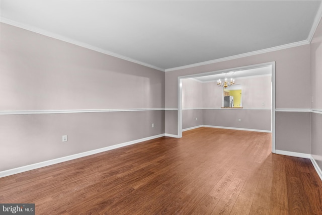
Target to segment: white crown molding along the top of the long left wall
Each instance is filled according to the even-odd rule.
[[[80,42],[80,41],[77,41],[77,40],[73,40],[73,39],[70,39],[68,37],[64,37],[62,35],[52,33],[50,31],[46,31],[46,30],[43,30],[43,29],[40,29],[40,28],[36,28],[36,27],[30,26],[30,25],[25,25],[23,23],[19,23],[19,22],[16,22],[16,21],[4,18],[4,17],[0,17],[0,22],[8,24],[8,25],[15,26],[15,27],[18,27],[18,28],[22,28],[22,29],[25,29],[25,30],[28,30],[28,31],[32,31],[32,32],[35,32],[35,33],[38,33],[38,34],[41,34],[41,35],[44,35],[44,36],[47,36],[47,37],[51,37],[51,38],[54,38],[54,39],[57,39],[57,40],[61,40],[61,41],[67,42],[67,43],[71,43],[73,45],[81,46],[83,48],[91,49],[93,51],[97,51],[97,52],[100,52],[100,53],[103,53],[103,54],[106,54],[106,55],[117,57],[119,59],[123,59],[123,60],[133,62],[133,63],[139,64],[139,65],[143,65],[143,66],[150,67],[150,68],[160,70],[160,71],[165,71],[165,69],[163,69],[163,68],[159,68],[157,66],[154,66],[154,65],[151,65],[151,64],[148,64],[148,63],[144,63],[144,62],[141,62],[139,60],[135,60],[135,59],[132,59],[130,57],[123,56],[121,54],[117,54],[117,53],[114,53],[114,52],[111,52],[111,51],[108,51],[108,50],[105,50],[105,49],[102,49],[102,48],[99,48],[99,47],[96,47],[96,46],[93,46],[93,45],[90,45],[90,44],[87,44],[87,43],[83,43],[83,42]]]

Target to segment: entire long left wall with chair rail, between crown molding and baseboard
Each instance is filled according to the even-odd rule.
[[[165,133],[163,71],[0,25],[0,171]]]

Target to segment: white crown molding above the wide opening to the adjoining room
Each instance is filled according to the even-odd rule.
[[[211,64],[211,63],[218,63],[218,62],[238,59],[238,58],[242,58],[242,57],[249,57],[249,56],[253,56],[253,55],[257,55],[257,54],[264,54],[264,53],[267,53],[267,52],[278,51],[278,50],[283,50],[283,49],[287,49],[287,48],[293,48],[293,47],[297,47],[297,46],[301,46],[301,45],[307,45],[307,44],[309,44],[309,42],[307,40],[302,40],[302,41],[299,41],[299,42],[294,42],[294,43],[289,43],[289,44],[285,44],[285,45],[275,46],[275,47],[272,47],[272,48],[266,48],[266,49],[262,49],[262,50],[258,50],[258,51],[247,52],[247,53],[244,53],[244,54],[237,54],[237,55],[233,55],[233,56],[229,56],[229,57],[223,57],[223,58],[219,58],[219,59],[208,60],[208,61],[204,61],[204,62],[200,62],[200,63],[194,63],[194,64],[184,65],[184,66],[179,66],[179,67],[174,67],[174,68],[167,68],[167,69],[165,69],[165,71],[166,72],[167,71],[176,71],[176,70],[185,69],[185,68],[192,68],[192,67],[201,66],[201,65],[208,65],[208,64]]]

